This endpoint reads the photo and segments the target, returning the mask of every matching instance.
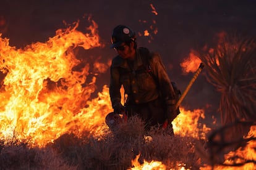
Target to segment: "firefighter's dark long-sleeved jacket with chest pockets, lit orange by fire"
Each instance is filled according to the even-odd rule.
[[[121,85],[128,95],[129,104],[140,105],[156,99],[161,99],[164,105],[176,103],[174,89],[160,55],[147,51],[145,48],[137,49],[133,61],[119,55],[112,60],[109,95],[113,107],[121,102]]]

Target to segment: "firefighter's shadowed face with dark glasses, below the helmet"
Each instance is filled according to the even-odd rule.
[[[122,57],[122,59],[134,59],[135,57],[135,49],[134,42],[130,42],[130,44],[122,43],[120,46],[114,48],[118,55]]]

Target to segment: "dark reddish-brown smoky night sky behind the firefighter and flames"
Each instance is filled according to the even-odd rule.
[[[151,12],[153,4],[158,15]],[[255,36],[256,1],[82,1],[82,0],[0,0],[0,17],[7,23],[1,25],[2,37],[10,39],[11,46],[23,47],[32,42],[45,42],[55,35],[59,28],[65,28],[63,20],[72,23],[81,20],[79,28],[87,23],[82,21],[84,14],[91,14],[98,24],[101,43],[105,48],[80,52],[80,55],[101,56],[107,61],[114,57],[115,52],[109,49],[111,31],[119,24],[128,25],[136,32],[148,30],[150,25],[158,28],[158,33],[149,37],[138,36],[139,46],[148,47],[163,57],[168,66],[171,80],[184,90],[192,78],[192,73],[182,75],[179,63],[190,52],[205,43],[210,44],[216,33],[221,31]],[[0,18],[1,19],[1,18]],[[146,20],[142,23],[140,20]],[[153,20],[156,23],[153,23]],[[172,67],[169,67],[169,66]],[[187,94],[182,105],[186,108],[212,107],[206,114],[217,113],[220,95],[215,87],[205,78],[205,70],[198,77]],[[99,91],[104,84],[109,83],[109,71],[101,75],[98,81]]]

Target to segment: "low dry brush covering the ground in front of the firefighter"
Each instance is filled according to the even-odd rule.
[[[194,147],[197,139],[168,136],[156,129],[148,132],[150,137],[144,134],[142,121],[133,117],[114,132],[106,127],[100,139],[65,134],[45,148],[24,142],[2,143],[0,169],[129,169],[139,154],[141,164],[153,160],[167,168],[178,168],[179,163],[190,169],[202,165]]]

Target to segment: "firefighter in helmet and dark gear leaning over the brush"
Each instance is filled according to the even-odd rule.
[[[146,130],[163,126],[166,119],[170,127],[177,115],[177,100],[160,55],[138,48],[135,32],[126,25],[113,29],[111,43],[117,52],[111,63],[109,84],[114,114],[138,115]],[[125,107],[121,104],[121,86],[127,96]]]

